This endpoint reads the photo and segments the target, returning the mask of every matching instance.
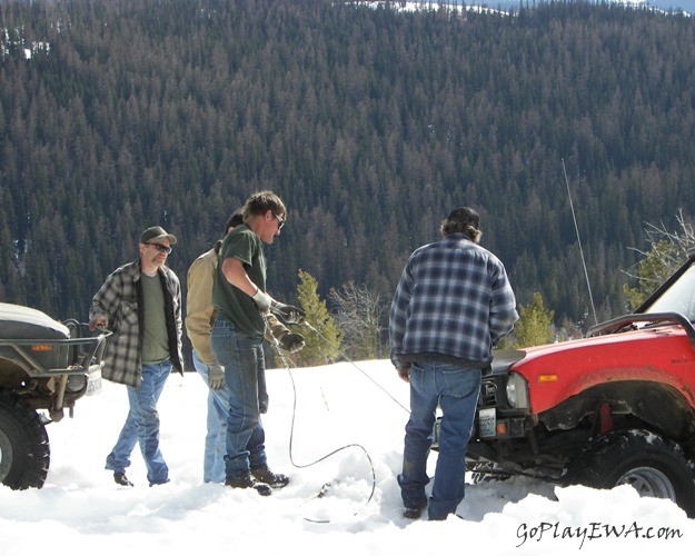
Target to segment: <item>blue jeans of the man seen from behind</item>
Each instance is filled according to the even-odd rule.
[[[410,419],[398,476],[405,507],[424,507],[427,502],[427,456],[437,405],[443,416],[429,519],[446,519],[464,499],[466,448],[479,391],[480,369],[448,363],[419,363],[410,368]]]

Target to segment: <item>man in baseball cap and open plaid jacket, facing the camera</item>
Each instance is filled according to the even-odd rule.
[[[161,226],[146,229],[139,258],[107,277],[89,310],[91,330],[107,327],[113,331],[102,376],[128,388],[130,411],[106,458],[106,468],[121,486],[132,486],[126,468],[136,444],[140,444],[150,486],[169,481],[159,449],[157,401],[171,369],[183,371],[181,287],[166,266],[176,241]]]

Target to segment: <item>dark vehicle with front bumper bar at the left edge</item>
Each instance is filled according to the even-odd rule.
[[[110,332],[82,337],[77,320],[0,304],[0,483],[43,486],[50,461],[44,425],[101,388]]]

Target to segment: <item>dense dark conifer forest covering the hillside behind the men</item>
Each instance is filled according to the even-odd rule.
[[[468,205],[519,302],[540,292],[582,325],[563,162],[602,319],[625,311],[645,222],[695,206],[695,22],[681,14],[324,0],[0,13],[0,300],[56,318],[86,318],[152,225],[179,237],[185,282],[229,214],[272,189],[289,209],[267,249],[278,298],[297,298],[302,270],[344,316],[356,309],[328,296],[349,285],[390,300],[410,251]]]

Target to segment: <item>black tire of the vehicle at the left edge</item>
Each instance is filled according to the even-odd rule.
[[[48,435],[37,411],[0,389],[0,483],[14,490],[41,488],[49,461]]]

